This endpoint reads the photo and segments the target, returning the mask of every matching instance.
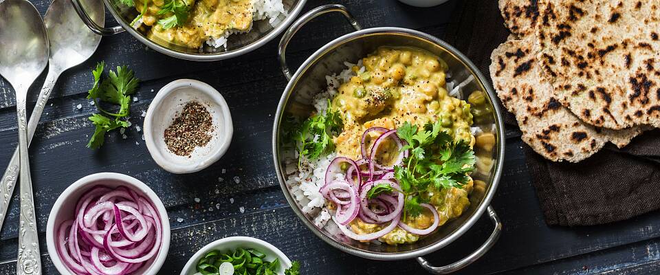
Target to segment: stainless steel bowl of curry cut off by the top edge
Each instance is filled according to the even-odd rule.
[[[222,59],[232,58],[234,56],[240,56],[242,54],[251,52],[258,47],[261,47],[275,36],[278,36],[289,24],[291,24],[300,10],[303,10],[303,6],[307,0],[283,0],[285,8],[289,11],[289,14],[283,21],[281,21],[274,28],[267,20],[254,21],[252,25],[252,30],[244,34],[232,34],[229,37],[227,43],[227,49],[216,49],[210,47],[206,44],[199,48],[189,48],[181,47],[179,45],[173,45],[166,43],[165,41],[149,39],[146,34],[148,28],[133,28],[131,27],[131,21],[137,17],[138,12],[135,8],[129,8],[123,5],[119,0],[104,0],[105,6],[110,10],[110,13],[119,23],[118,26],[112,28],[104,28],[96,24],[93,20],[89,18],[89,15],[85,12],[80,4],[80,0],[72,0],[76,12],[80,15],[80,18],[83,19],[83,22],[96,34],[100,35],[113,35],[124,30],[128,31],[135,39],[144,43],[151,49],[167,54],[168,56],[174,56],[176,58],[191,60],[191,61],[218,61]]]

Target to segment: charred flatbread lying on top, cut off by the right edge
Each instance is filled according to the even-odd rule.
[[[545,0],[543,77],[564,106],[609,129],[660,127],[660,0]]]

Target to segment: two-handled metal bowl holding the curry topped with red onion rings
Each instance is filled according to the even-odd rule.
[[[303,65],[292,74],[285,59],[287,44],[305,23],[328,12],[343,14],[355,28],[355,32],[345,34],[327,43],[307,58]],[[480,126],[488,128],[488,131],[494,134],[496,140],[490,153],[478,155],[480,159],[475,172],[472,173],[472,177],[478,179],[478,181],[475,180],[474,191],[470,195],[470,206],[463,212],[461,217],[448,221],[432,234],[420,238],[416,243],[405,245],[361,243],[348,239],[342,234],[338,234],[338,232],[329,232],[327,230],[328,226],[324,229],[317,228],[314,225],[314,217],[310,217],[301,210],[301,206],[286,183],[286,177],[289,175],[287,175],[287,164],[285,163],[287,152],[287,140],[285,140],[285,131],[283,130],[285,118],[289,115],[301,117],[309,115],[314,110],[314,107],[311,106],[312,98],[318,92],[326,89],[325,76],[338,74],[342,69],[345,69],[344,61],[355,63],[382,45],[418,47],[427,50],[439,56],[448,64],[447,74],[451,76],[450,80],[458,80],[461,83],[462,80],[467,78],[474,78],[464,87],[463,91],[481,90],[485,92],[485,104],[492,109],[492,112],[485,116],[485,121],[481,121]],[[276,173],[287,201],[289,201],[296,215],[316,236],[343,252],[367,259],[393,261],[417,258],[419,264],[426,268],[428,272],[434,274],[447,274],[459,270],[476,261],[494,245],[502,230],[502,223],[500,223],[489,203],[497,188],[502,170],[505,145],[504,125],[500,110],[497,104],[494,104],[496,96],[492,88],[487,84],[487,80],[481,72],[463,54],[436,37],[415,30],[404,28],[370,28],[362,30],[360,24],[353,19],[344,6],[322,5],[300,17],[285,32],[280,42],[279,56],[283,73],[289,79],[289,84],[278,104],[274,122],[272,143]],[[467,94],[463,95],[463,98],[467,98]],[[458,239],[484,213],[492,221],[494,230],[485,243],[472,254],[467,255],[461,261],[443,267],[434,267],[422,258],[422,256],[439,250]],[[331,223],[331,221],[329,222]]]

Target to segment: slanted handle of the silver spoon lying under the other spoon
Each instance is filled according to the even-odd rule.
[[[50,66],[46,80],[39,93],[39,98],[36,101],[34,110],[32,110],[32,115],[30,115],[30,121],[28,122],[28,144],[32,141],[36,125],[39,124],[41,113],[43,113],[43,108],[46,106],[48,98],[50,98],[58,76],[60,76],[59,70],[55,69],[54,66]],[[9,203],[12,200],[12,194],[14,194],[16,181],[19,178],[19,167],[19,147],[17,146],[14,155],[12,155],[12,160],[9,162],[0,181],[0,232],[2,230],[2,224],[5,221],[5,214],[7,214]]]

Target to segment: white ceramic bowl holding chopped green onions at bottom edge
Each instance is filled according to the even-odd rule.
[[[192,258],[188,260],[188,263],[186,263],[184,269],[181,270],[181,275],[192,275],[197,273],[197,262],[199,262],[199,259],[201,259],[201,257],[203,257],[211,250],[225,251],[235,250],[236,248],[254,248],[259,250],[263,252],[263,254],[266,254],[266,257],[264,258],[265,261],[274,261],[275,259],[280,259],[280,270],[278,270],[278,274],[284,274],[284,270],[291,267],[291,260],[289,260],[287,255],[278,250],[272,244],[249,236],[230,236],[228,238],[219,239],[209,243],[208,245],[201,248],[201,250],[197,251],[197,253],[192,255]]]

